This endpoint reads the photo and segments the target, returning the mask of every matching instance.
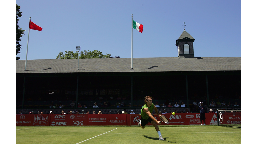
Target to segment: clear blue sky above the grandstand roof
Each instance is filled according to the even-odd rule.
[[[143,24],[133,29],[133,58],[177,57],[176,40],[185,30],[195,38],[196,57],[241,57],[239,0],[16,0],[24,35],[21,60],[26,59],[29,17],[42,27],[30,30],[28,59],[55,59],[59,52],[98,50],[131,58],[131,14]]]

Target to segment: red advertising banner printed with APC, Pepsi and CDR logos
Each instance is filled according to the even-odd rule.
[[[52,126],[83,126],[87,125],[88,114],[53,114],[50,115]]]

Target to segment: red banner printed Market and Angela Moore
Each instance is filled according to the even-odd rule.
[[[49,126],[50,118],[42,115],[16,115],[16,126]]]

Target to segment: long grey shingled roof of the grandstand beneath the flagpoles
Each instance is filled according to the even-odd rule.
[[[185,72],[240,71],[241,57],[166,57],[104,59],[16,60],[16,74],[22,73],[113,73],[113,72]]]

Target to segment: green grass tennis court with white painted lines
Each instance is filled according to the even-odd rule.
[[[224,126],[159,126],[164,141],[153,126],[16,126],[16,144],[235,144],[241,143],[241,128]]]

